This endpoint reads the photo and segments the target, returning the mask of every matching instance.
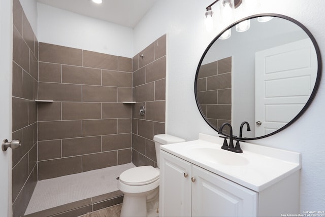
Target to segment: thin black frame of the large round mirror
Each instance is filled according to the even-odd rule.
[[[198,75],[199,75],[199,70],[200,70],[200,67],[201,67],[201,64],[202,64],[202,61],[204,59],[204,57],[206,56],[207,52],[209,51],[209,49],[211,48],[211,46],[214,44],[214,42],[219,39],[219,37],[221,36],[221,34],[223,32],[225,32],[226,30],[232,28],[233,26],[235,26],[236,24],[244,21],[244,20],[248,20],[248,19],[252,19],[252,18],[257,18],[257,17],[263,17],[263,16],[272,16],[272,17],[279,17],[279,18],[283,18],[283,19],[286,19],[288,21],[291,21],[293,23],[295,23],[296,25],[298,25],[299,27],[301,27],[305,32],[306,34],[308,35],[308,37],[310,38],[310,40],[312,41],[313,45],[314,45],[314,48],[315,48],[315,51],[316,51],[316,56],[317,56],[317,64],[318,64],[318,68],[317,68],[317,76],[316,76],[316,81],[315,81],[315,86],[313,88],[313,91],[308,99],[308,101],[306,102],[305,106],[302,108],[302,110],[290,121],[288,122],[286,125],[284,125],[283,127],[281,127],[280,129],[272,132],[272,133],[269,133],[267,135],[264,135],[264,136],[259,136],[259,137],[253,137],[253,138],[240,138],[241,140],[255,140],[255,139],[261,139],[261,138],[265,138],[265,137],[268,137],[268,136],[271,136],[271,135],[274,135],[282,130],[284,130],[285,128],[287,128],[288,126],[290,126],[291,124],[293,124],[295,121],[297,121],[307,110],[307,108],[309,107],[309,105],[311,104],[311,102],[313,101],[316,93],[317,93],[317,90],[319,88],[319,84],[320,84],[320,79],[321,79],[321,71],[322,71],[322,64],[321,64],[321,56],[320,56],[320,50],[319,50],[319,47],[317,45],[317,42],[315,40],[315,38],[313,37],[313,35],[311,34],[311,32],[300,22],[298,22],[297,20],[291,18],[291,17],[287,17],[285,15],[281,15],[281,14],[256,14],[256,15],[252,15],[252,16],[248,16],[246,18],[243,18],[241,20],[238,20],[236,21],[235,23],[231,24],[230,26],[226,27],[224,30],[222,30],[213,40],[212,42],[208,45],[208,47],[206,48],[206,50],[204,51],[201,59],[200,59],[200,62],[199,62],[199,65],[198,65],[198,68],[197,68],[197,72],[196,72],[196,76],[195,76],[195,81],[194,81],[194,94],[195,94],[195,99],[196,99],[196,102],[197,102],[197,106],[199,108],[199,111],[202,115],[202,117],[204,118],[204,120],[207,122],[207,124],[212,127],[215,131],[219,132],[217,127],[213,126],[209,121],[208,119],[204,116],[204,113],[201,109],[201,106],[200,106],[200,103],[199,103],[199,99],[198,99],[198,95],[197,95],[197,81],[198,81]],[[222,133],[223,135],[226,135],[226,136],[229,136],[227,134],[224,134]],[[239,138],[239,137],[237,137]]]

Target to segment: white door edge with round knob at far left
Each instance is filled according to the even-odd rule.
[[[12,97],[12,1],[0,1],[0,140],[11,140]],[[11,149],[0,149],[0,216],[12,215]]]

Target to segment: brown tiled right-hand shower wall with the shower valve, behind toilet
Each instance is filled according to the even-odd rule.
[[[143,57],[141,56],[143,55]],[[156,167],[153,136],[165,133],[166,35],[133,57],[132,162]],[[140,106],[145,115],[140,116]]]

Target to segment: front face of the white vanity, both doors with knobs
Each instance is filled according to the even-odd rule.
[[[159,216],[256,216],[257,193],[160,152]]]

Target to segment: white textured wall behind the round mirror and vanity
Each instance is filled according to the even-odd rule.
[[[203,120],[194,99],[194,77],[201,55],[212,39],[232,22],[208,33],[205,8],[212,0],[158,1],[134,29],[134,51],[138,53],[167,33],[167,133],[193,140],[199,133],[216,135]],[[218,6],[213,6],[216,10]],[[233,21],[257,13],[278,13],[304,24],[314,35],[325,58],[325,1],[261,0],[261,7],[237,13]],[[214,17],[217,17],[215,13]],[[324,72],[323,72],[324,73]],[[325,80],[306,113],[276,135],[254,140],[263,146],[302,153],[301,212],[324,210],[325,204]],[[280,194],[280,193],[279,193]],[[291,213],[284,213],[291,214]]]

